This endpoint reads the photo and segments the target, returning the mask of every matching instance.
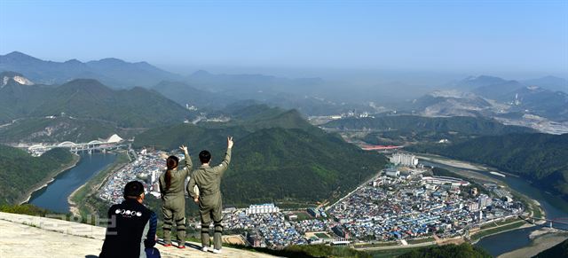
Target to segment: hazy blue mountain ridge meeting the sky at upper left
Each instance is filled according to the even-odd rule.
[[[129,63],[121,59],[100,59],[81,62],[45,61],[13,51],[0,55],[0,72],[14,71],[36,83],[61,84],[75,79],[96,79],[116,88],[150,87],[163,80],[181,80],[177,74],[166,72],[146,62]]]

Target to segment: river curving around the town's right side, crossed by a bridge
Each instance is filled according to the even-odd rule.
[[[421,161],[421,163],[427,166],[435,166],[438,168],[450,168],[453,170],[456,169],[454,167],[450,167],[444,164],[439,164],[433,161]],[[485,171],[479,171],[473,169],[465,169],[465,168],[457,168],[457,169],[477,171],[486,176],[491,176],[495,179],[498,179],[505,184],[508,184],[511,189],[523,193],[525,194],[525,196],[531,199],[537,200],[540,203],[540,207],[544,209],[544,212],[546,213],[546,217],[548,219],[568,217],[567,201],[557,196],[554,196],[549,192],[545,192],[543,190],[540,190],[539,188],[534,187],[523,178],[515,176],[506,176],[506,177],[495,176]],[[482,238],[477,242],[476,246],[484,248],[487,252],[489,252],[489,254],[492,254],[493,256],[505,254],[510,251],[516,250],[518,248],[529,246],[531,244],[529,235],[531,234],[532,231],[538,229],[539,227],[540,226],[533,228],[519,229],[514,231],[507,231],[497,235]],[[556,224],[555,227],[568,230],[568,225],[564,224]]]

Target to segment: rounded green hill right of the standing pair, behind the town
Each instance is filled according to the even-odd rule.
[[[223,181],[228,203],[335,199],[383,168],[383,156],[333,135],[262,129],[235,143]]]

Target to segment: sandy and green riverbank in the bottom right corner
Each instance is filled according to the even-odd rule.
[[[543,229],[539,230],[543,231]],[[568,238],[567,232],[559,231],[549,231],[548,233],[542,233],[538,231],[533,231],[533,233],[539,234],[539,236],[533,238],[529,246],[517,249],[515,251],[501,254],[497,256],[498,258],[515,258],[515,257],[533,257],[536,254],[561,243]],[[532,235],[533,235],[532,233]]]

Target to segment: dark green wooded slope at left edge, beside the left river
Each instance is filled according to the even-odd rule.
[[[12,204],[43,179],[74,161],[65,149],[53,149],[41,157],[0,145],[0,204]]]

